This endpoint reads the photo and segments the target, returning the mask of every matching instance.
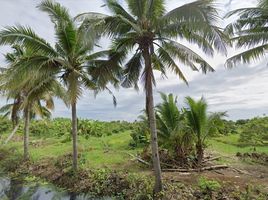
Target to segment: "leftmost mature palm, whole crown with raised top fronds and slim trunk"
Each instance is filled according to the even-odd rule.
[[[20,111],[24,117],[24,159],[29,159],[29,126],[31,118],[50,116],[54,109],[53,96],[64,97],[64,90],[55,76],[40,77],[37,71],[25,73],[21,60],[33,56],[36,52],[21,45],[13,46],[15,51],[7,54],[8,66],[0,74],[0,89],[7,98],[14,97],[16,103],[4,108],[12,109],[18,117]],[[12,58],[12,59],[11,59]],[[41,102],[45,102],[45,106]],[[2,108],[2,111],[4,110]],[[12,114],[11,114],[12,117]]]

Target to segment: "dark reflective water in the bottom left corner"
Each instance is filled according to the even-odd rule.
[[[26,183],[21,178],[0,176],[0,200],[111,200],[111,198],[70,194],[53,185],[29,181]]]

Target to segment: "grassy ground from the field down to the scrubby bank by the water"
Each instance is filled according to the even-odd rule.
[[[142,151],[141,148],[133,149],[129,146],[129,133],[123,131],[109,136],[87,138],[80,136],[80,170],[77,174],[71,170],[72,149],[68,138],[31,137],[31,160],[25,163],[21,160],[22,135],[18,134],[8,145],[0,147],[0,168],[5,168],[12,176],[35,176],[77,193],[114,196],[116,199],[152,199],[152,171],[139,165],[128,155]],[[252,151],[253,147],[237,145],[237,139],[237,136],[233,135],[210,139],[208,150],[226,155],[230,159],[237,152]],[[256,148],[256,151],[268,152],[268,148],[260,147]],[[241,163],[243,164],[242,161]],[[266,193],[258,193],[260,190],[255,186],[249,186],[250,191],[246,188],[236,188],[232,180],[225,178],[221,181],[221,177],[215,179],[213,174],[187,175],[188,179],[196,180],[190,183],[185,182],[185,175],[179,173],[163,175],[165,190],[159,199],[220,199],[225,195],[229,199],[256,197],[265,200],[267,197]]]

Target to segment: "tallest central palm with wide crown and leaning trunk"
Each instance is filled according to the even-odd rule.
[[[178,75],[187,83],[177,61],[193,70],[204,73],[213,68],[196,52],[178,39],[197,44],[206,54],[214,50],[226,53],[227,37],[217,27],[218,12],[213,0],[198,0],[167,12],[165,0],[125,0],[127,8],[117,0],[106,0],[112,16],[84,13],[78,16],[87,22],[105,24],[105,33],[113,38],[113,60],[125,63],[123,86],[136,87],[143,82],[146,94],[146,110],[151,130],[152,160],[157,193],[162,189],[161,168],[158,154],[153,87],[154,70],[164,76],[167,71]],[[129,58],[129,55],[132,55]],[[128,59],[128,60],[126,60]]]

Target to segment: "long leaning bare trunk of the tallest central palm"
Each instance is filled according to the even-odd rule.
[[[145,90],[146,90],[146,111],[149,118],[149,125],[151,131],[151,146],[152,146],[152,160],[155,175],[154,193],[159,193],[162,190],[161,167],[158,151],[158,140],[156,132],[156,119],[154,112],[154,97],[153,97],[153,69],[151,65],[151,57],[149,49],[143,52],[145,60]]]

